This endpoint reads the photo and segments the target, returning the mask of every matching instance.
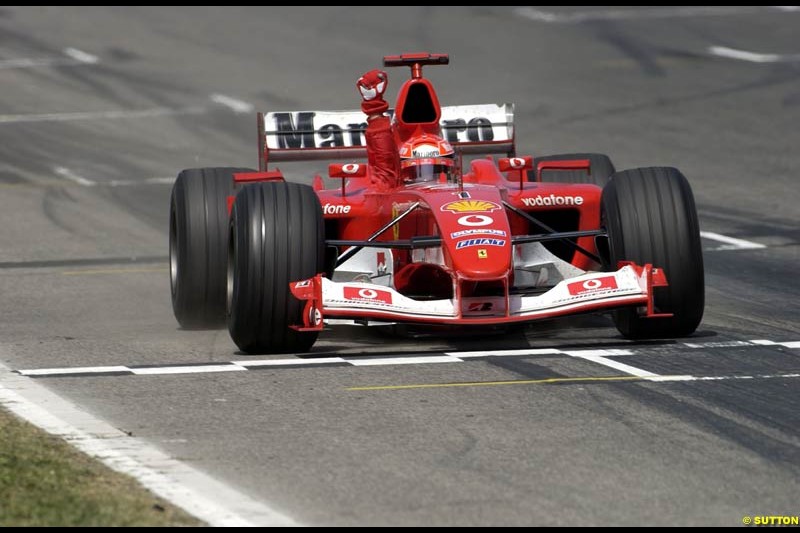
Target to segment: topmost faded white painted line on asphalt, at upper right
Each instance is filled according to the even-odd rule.
[[[549,24],[576,24],[580,22],[597,20],[645,20],[661,18],[686,18],[701,16],[730,16],[745,15],[766,11],[769,8],[758,6],[688,6],[688,7],[663,7],[653,9],[598,9],[591,11],[573,11],[570,13],[553,13],[542,11],[533,7],[520,7],[514,14],[536,22]]]

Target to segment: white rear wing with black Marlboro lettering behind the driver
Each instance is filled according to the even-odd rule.
[[[514,156],[513,104],[445,106],[440,125],[442,135],[463,153]],[[270,161],[365,158],[366,128],[361,111],[259,113],[259,170]]]

